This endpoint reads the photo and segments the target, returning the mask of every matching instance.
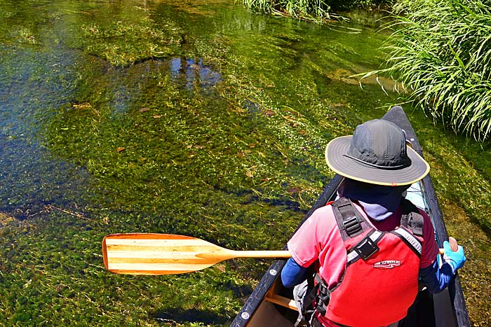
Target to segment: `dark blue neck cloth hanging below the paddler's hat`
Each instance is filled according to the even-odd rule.
[[[409,187],[410,185],[383,186],[344,179],[337,193],[340,197],[358,201],[373,220],[383,221],[394,214],[401,203],[403,192]]]

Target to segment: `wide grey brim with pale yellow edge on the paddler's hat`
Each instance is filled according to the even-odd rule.
[[[363,165],[346,156],[352,136],[332,139],[325,147],[325,161],[329,168],[344,177],[365,183],[400,186],[409,185],[423,179],[429,173],[428,163],[408,146],[411,165],[402,169],[380,169]]]

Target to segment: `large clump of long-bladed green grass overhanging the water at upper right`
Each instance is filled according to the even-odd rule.
[[[400,0],[382,74],[435,120],[478,140],[491,134],[491,1]]]

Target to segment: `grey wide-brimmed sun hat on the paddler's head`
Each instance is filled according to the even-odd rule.
[[[412,184],[429,172],[428,163],[406,146],[403,130],[383,119],[369,120],[353,135],[330,141],[325,161],[349,179],[387,186]]]

